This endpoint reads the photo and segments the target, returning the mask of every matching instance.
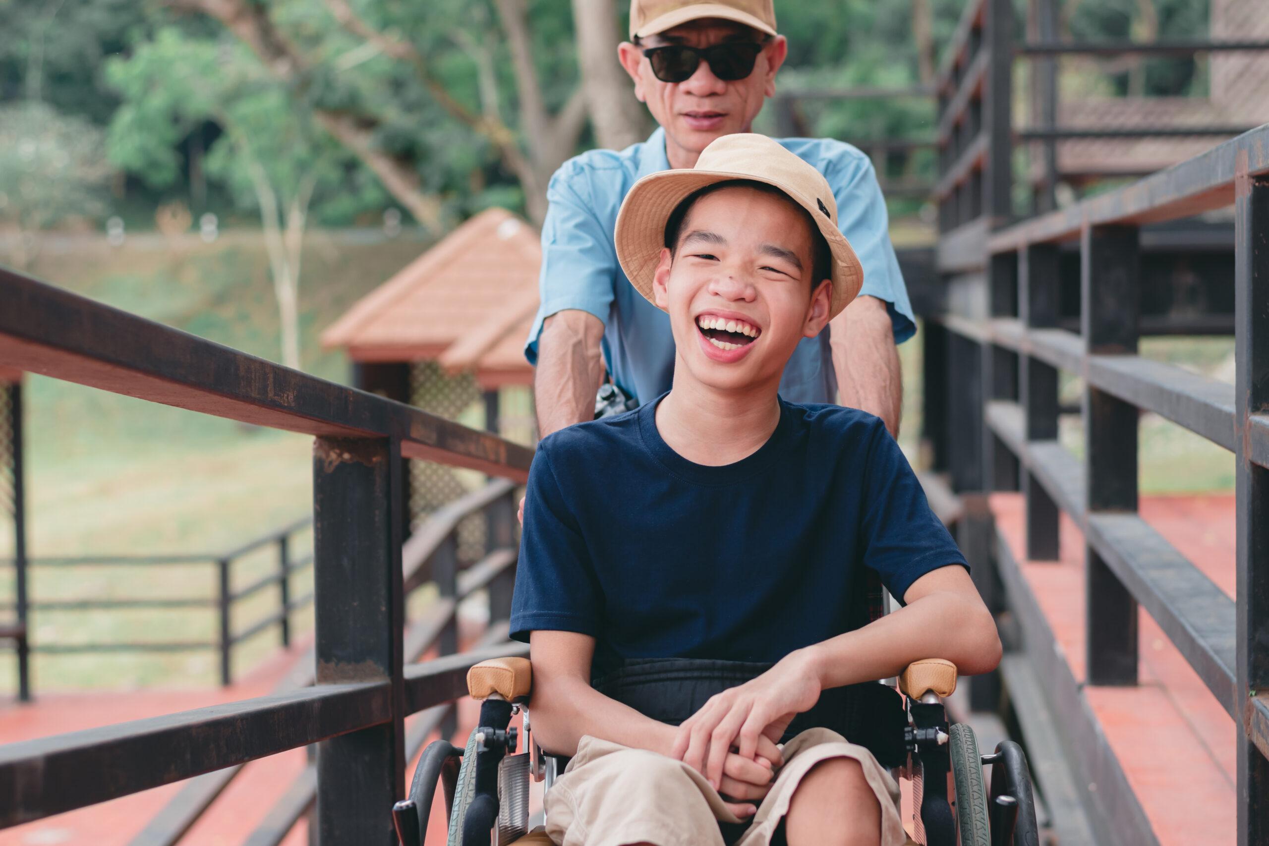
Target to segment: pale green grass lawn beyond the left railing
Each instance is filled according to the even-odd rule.
[[[305,369],[348,381],[341,353],[324,353],[319,332],[353,301],[426,249],[402,236],[386,241],[313,232],[306,241],[301,282]],[[0,257],[3,261],[3,257]],[[32,274],[263,358],[278,358],[277,307],[259,236],[228,232],[213,245],[197,238],[170,244],[159,236],[122,247],[76,240],[51,249]],[[312,507],[312,439],[160,406],[82,386],[28,377],[28,538],[33,556],[202,554],[227,550]],[[10,528],[0,526],[0,556]],[[296,539],[294,554],[310,539]],[[236,564],[247,583],[275,566],[275,550]],[[181,567],[36,567],[30,592],[39,600],[82,597],[211,597],[211,564]],[[292,595],[311,589],[297,573]],[[11,600],[11,578],[0,597]],[[277,608],[265,590],[235,608],[235,630]],[[211,641],[212,609],[33,613],[37,642]],[[311,623],[301,615],[296,629]],[[277,642],[270,629],[236,651],[250,667]],[[206,685],[218,677],[211,651],[181,653],[42,654],[34,658],[41,690]],[[10,693],[13,656],[0,653],[0,691]]]

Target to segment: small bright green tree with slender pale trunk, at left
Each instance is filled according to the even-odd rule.
[[[386,198],[367,195],[357,160],[313,127],[293,94],[231,39],[190,38],[165,28],[129,58],[109,62],[107,71],[123,98],[110,123],[110,159],[154,186],[179,178],[176,147],[193,127],[220,127],[207,172],[260,213],[282,361],[298,368],[299,259],[315,198],[360,195],[372,205]]]

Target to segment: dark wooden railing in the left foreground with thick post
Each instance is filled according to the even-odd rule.
[[[315,743],[320,841],[395,843],[405,717],[463,695],[476,661],[527,653],[405,662],[400,458],[523,482],[532,450],[11,271],[0,270],[0,302],[8,367],[312,435],[316,614],[312,686],[0,747],[0,826]]]

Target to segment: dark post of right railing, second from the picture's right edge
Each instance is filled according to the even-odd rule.
[[[1137,351],[1140,256],[1136,227],[1085,227],[1080,299],[1089,355]],[[1137,407],[1084,389],[1086,509],[1137,510]],[[1085,667],[1094,685],[1137,684],[1137,600],[1085,542]]]

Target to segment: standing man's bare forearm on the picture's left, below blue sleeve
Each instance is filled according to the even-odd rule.
[[[584,311],[562,311],[543,323],[533,377],[539,438],[595,416],[595,392],[604,375],[603,335],[603,322]]]

